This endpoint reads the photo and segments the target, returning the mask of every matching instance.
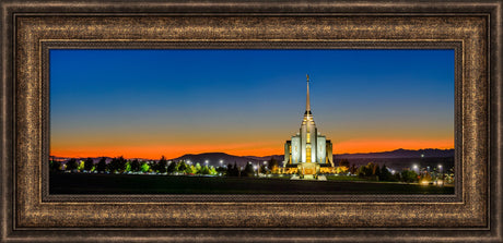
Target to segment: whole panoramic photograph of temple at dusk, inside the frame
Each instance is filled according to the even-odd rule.
[[[454,194],[454,50],[52,49],[50,194]]]

